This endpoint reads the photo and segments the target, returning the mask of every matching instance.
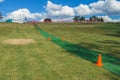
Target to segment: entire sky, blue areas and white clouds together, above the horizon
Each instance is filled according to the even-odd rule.
[[[18,13],[31,19],[50,17],[64,20],[75,15],[97,15],[109,21],[119,21],[120,0],[0,0],[0,12],[6,19],[13,16],[18,19],[19,16],[15,15]]]

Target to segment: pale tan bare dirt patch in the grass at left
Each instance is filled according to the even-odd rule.
[[[34,39],[7,39],[3,43],[11,45],[25,45],[30,43],[35,43]]]

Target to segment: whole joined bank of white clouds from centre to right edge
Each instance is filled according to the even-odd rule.
[[[50,18],[67,18],[75,15],[86,16],[91,14],[116,15],[120,14],[120,1],[99,0],[89,5],[80,4],[76,7],[58,5],[48,1],[45,9],[44,16]]]

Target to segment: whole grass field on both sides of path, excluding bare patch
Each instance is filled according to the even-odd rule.
[[[120,58],[120,23],[39,23],[43,30],[75,45]],[[10,45],[8,39],[34,39]],[[31,24],[0,23],[0,80],[119,80],[41,36]]]

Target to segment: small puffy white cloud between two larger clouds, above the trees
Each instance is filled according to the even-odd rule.
[[[81,15],[81,16],[90,15],[93,13],[93,11],[89,8],[88,5],[83,5],[83,4],[80,4],[79,6],[75,7],[74,10],[77,15]]]

